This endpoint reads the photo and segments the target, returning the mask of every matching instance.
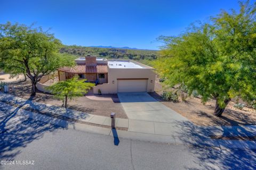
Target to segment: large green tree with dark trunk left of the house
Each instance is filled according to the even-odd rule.
[[[25,73],[31,80],[31,95],[35,95],[44,75],[74,64],[70,55],[59,53],[61,45],[42,28],[7,22],[0,25],[0,68],[13,76]]]

